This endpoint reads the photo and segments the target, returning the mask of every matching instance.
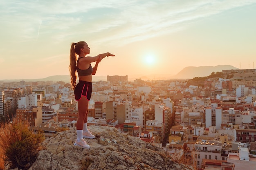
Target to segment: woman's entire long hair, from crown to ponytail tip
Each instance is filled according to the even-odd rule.
[[[86,44],[85,41],[79,41],[77,43],[72,43],[70,48],[70,82],[73,89],[76,87],[76,54],[80,54],[80,49]]]

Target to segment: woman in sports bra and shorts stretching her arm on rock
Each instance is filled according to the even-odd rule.
[[[75,146],[90,148],[84,138],[93,139],[95,136],[87,128],[88,105],[92,94],[92,75],[95,75],[98,64],[101,60],[108,56],[115,56],[109,52],[99,54],[95,57],[85,57],[90,54],[90,48],[85,41],[72,43],[70,48],[70,75],[71,85],[74,89],[75,99],[78,101],[78,119],[76,123],[77,139]],[[76,60],[76,56],[79,55]],[[91,63],[95,62],[94,68]],[[76,71],[79,77],[79,83],[76,84]]]

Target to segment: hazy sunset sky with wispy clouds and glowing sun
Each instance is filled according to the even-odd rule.
[[[97,76],[256,62],[256,0],[0,0],[0,16],[0,80],[69,75],[78,41],[116,55]]]

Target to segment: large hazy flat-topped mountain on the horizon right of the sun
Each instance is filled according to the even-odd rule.
[[[194,77],[209,76],[212,72],[222,72],[222,70],[238,70],[232,65],[217,65],[217,66],[199,66],[199,67],[185,67],[183,70],[178,72],[174,79],[191,79]]]

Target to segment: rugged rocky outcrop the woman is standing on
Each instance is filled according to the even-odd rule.
[[[174,163],[162,148],[141,139],[118,133],[108,126],[90,126],[95,139],[86,139],[91,146],[74,146],[75,127],[58,133],[43,142],[29,170],[192,170]]]

